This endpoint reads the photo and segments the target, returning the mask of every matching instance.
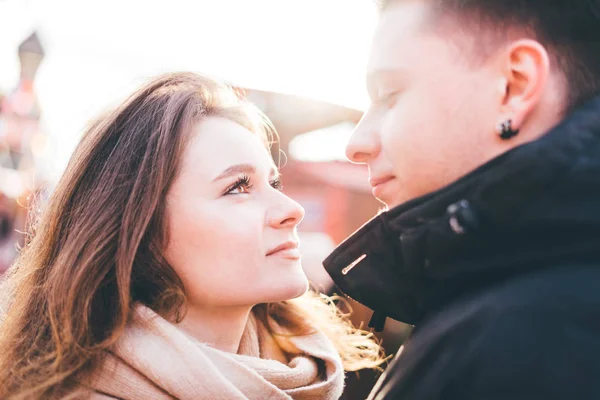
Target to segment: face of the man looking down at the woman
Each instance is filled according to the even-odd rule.
[[[440,189],[502,148],[494,133],[497,71],[469,60],[476,46],[467,32],[453,40],[432,29],[427,7],[408,0],[383,12],[368,64],[372,104],[346,149],[351,161],[368,165],[373,194],[390,208]]]

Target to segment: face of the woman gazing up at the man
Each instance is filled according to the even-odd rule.
[[[243,306],[302,295],[302,207],[279,190],[260,137],[221,117],[193,132],[167,194],[165,257],[190,305]]]

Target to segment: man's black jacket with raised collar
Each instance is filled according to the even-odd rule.
[[[600,98],[324,265],[376,317],[416,325],[372,399],[600,399]]]

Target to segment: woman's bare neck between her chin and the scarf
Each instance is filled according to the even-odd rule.
[[[203,308],[190,304],[177,326],[202,343],[237,353],[251,309],[249,306]]]

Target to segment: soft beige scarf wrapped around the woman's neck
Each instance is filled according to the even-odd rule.
[[[140,306],[136,314],[149,325],[126,329],[92,376],[93,399],[337,400],[342,395],[340,357],[321,333],[292,338],[303,355],[284,364],[269,359],[281,350],[253,316],[239,354],[232,354],[195,341],[149,308]]]

